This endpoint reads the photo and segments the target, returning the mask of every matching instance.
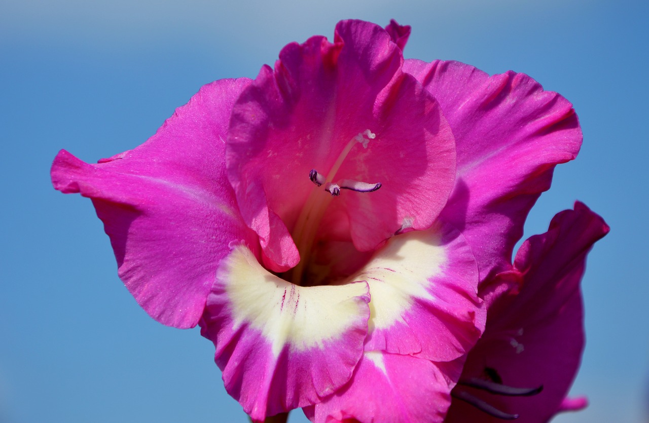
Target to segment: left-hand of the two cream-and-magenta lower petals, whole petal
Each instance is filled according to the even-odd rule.
[[[365,282],[300,287],[233,248],[201,319],[228,393],[253,420],[319,402],[352,377],[369,318]]]

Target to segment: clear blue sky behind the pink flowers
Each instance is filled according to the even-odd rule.
[[[646,422],[649,8],[644,1],[1,1],[0,421],[245,422],[198,330],[149,319],[123,287],[89,200],[49,182],[65,148],[95,162],[153,135],[202,84],[255,77],[336,21],[413,26],[407,57],[528,73],[567,97],[585,136],[526,226],[580,199],[611,234],[583,282],[583,413]],[[298,411],[291,422],[305,419]]]

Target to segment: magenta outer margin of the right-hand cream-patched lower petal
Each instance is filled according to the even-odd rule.
[[[368,335],[365,350],[447,362],[465,356],[484,332],[486,308],[478,298],[478,267],[471,248],[449,225],[435,224],[429,231],[439,236],[445,254],[439,272],[424,281],[430,296],[413,295],[410,307],[392,326],[375,328]],[[422,234],[410,232],[393,237],[388,245],[399,237],[425,239]],[[402,260],[408,260],[406,254]],[[404,267],[411,272],[410,266]],[[414,274],[410,273],[409,278],[415,278]]]

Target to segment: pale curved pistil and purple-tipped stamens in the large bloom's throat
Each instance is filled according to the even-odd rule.
[[[293,269],[287,272],[287,280],[290,280],[293,284],[301,285],[304,269],[311,261],[313,242],[315,241],[315,236],[317,235],[323,217],[326,214],[326,209],[332,199],[340,195],[340,190],[350,189],[356,192],[368,193],[376,191],[381,187],[380,183],[370,184],[368,182],[350,179],[343,179],[334,182],[336,173],[354,146],[360,143],[363,145],[363,148],[367,149],[369,141],[374,138],[376,138],[376,134],[371,132],[371,130],[366,129],[354,138],[350,139],[349,143],[345,145],[345,148],[339,154],[336,162],[334,162],[328,175],[325,176],[315,169],[310,171],[309,178],[313,184],[318,187],[324,186],[324,190],[328,191],[330,195],[323,195],[323,192],[320,189],[313,189],[309,194],[309,197],[306,199],[302,211],[297,218],[292,235],[293,241],[295,242],[300,254],[300,261]]]

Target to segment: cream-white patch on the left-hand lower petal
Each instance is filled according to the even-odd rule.
[[[365,282],[300,287],[264,269],[243,245],[221,262],[217,280],[225,287],[234,329],[245,322],[259,330],[275,356],[287,343],[295,351],[322,348],[367,313]]]

